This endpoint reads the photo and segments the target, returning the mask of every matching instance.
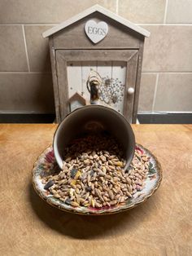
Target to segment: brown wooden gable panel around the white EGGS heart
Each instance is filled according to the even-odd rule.
[[[85,24],[88,20],[105,21],[109,32],[101,42],[93,44],[85,34]],[[138,49],[142,34],[129,29],[98,12],[76,21],[75,24],[53,34],[55,49]]]

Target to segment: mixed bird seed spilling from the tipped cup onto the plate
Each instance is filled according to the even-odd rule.
[[[108,208],[141,191],[149,157],[136,149],[128,170],[120,145],[110,135],[74,139],[64,152],[63,170],[42,178],[45,189],[74,207]]]

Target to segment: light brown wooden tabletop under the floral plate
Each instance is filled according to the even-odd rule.
[[[164,170],[149,201],[122,214],[67,214],[34,192],[31,170],[56,125],[0,125],[0,255],[192,255],[192,126],[133,125]]]

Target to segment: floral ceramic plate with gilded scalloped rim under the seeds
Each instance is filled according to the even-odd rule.
[[[49,175],[52,172],[59,171],[59,166],[55,161],[55,156],[53,152],[53,148],[47,148],[40,157],[38,157],[37,161],[33,167],[33,187],[35,188],[37,194],[41,196],[43,200],[45,200],[48,204],[53,205],[60,210],[65,210],[68,212],[76,213],[76,214],[92,214],[92,215],[102,215],[102,214],[116,214],[122,212],[124,210],[129,210],[137,205],[142,204],[146,201],[150,196],[154,194],[154,192],[159,188],[162,179],[162,170],[159,164],[159,161],[156,157],[146,148],[143,148],[142,145],[137,144],[137,150],[145,153],[148,157],[150,157],[150,171],[147,174],[147,178],[144,183],[144,188],[142,191],[137,191],[133,194],[133,197],[126,201],[124,205],[115,205],[108,207],[107,209],[96,209],[93,207],[85,207],[78,206],[74,207],[72,205],[67,205],[63,201],[55,198],[51,195],[47,190],[44,189],[44,184],[41,183],[41,177]]]

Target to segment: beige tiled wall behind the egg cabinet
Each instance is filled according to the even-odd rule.
[[[139,111],[192,112],[191,0],[0,0],[0,112],[54,112],[41,33],[95,3],[151,31]]]

